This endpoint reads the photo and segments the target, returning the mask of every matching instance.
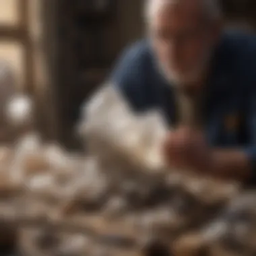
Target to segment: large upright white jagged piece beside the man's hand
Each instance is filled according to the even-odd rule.
[[[100,155],[103,150],[115,158],[117,151],[145,170],[160,170],[164,166],[160,143],[167,126],[157,111],[136,116],[115,86],[107,84],[84,106],[83,117],[85,141],[94,146],[101,142],[98,149],[94,148],[95,154]]]

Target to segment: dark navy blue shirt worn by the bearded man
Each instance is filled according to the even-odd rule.
[[[175,123],[174,92],[159,73],[147,40],[123,53],[111,79],[133,110],[158,108],[170,125]],[[223,34],[204,95],[201,108],[208,142],[212,146],[241,148],[256,174],[256,36]]]

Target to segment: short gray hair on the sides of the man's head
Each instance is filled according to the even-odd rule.
[[[168,4],[179,4],[182,0],[146,0],[145,18],[150,20],[158,11],[159,7]],[[201,0],[205,17],[210,20],[218,20],[222,15],[222,10],[218,0]]]

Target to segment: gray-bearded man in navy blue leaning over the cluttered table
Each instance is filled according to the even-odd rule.
[[[112,81],[137,112],[162,111],[170,165],[252,183],[256,38],[224,32],[214,0],[148,0],[146,24]]]

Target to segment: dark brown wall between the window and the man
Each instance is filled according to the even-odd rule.
[[[56,0],[57,1],[57,0]],[[69,0],[57,1],[57,96],[59,139],[73,144],[82,102],[110,73],[123,48],[141,38],[142,0],[117,0],[113,15],[100,23],[77,22]]]

